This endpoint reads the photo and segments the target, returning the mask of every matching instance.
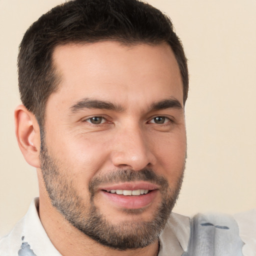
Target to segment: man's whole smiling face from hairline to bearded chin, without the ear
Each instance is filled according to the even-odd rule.
[[[167,44],[67,44],[53,53],[41,171],[52,205],[111,247],[157,239],[182,181],[182,81]]]

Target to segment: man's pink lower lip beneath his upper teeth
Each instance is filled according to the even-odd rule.
[[[108,193],[104,190],[101,190],[104,197],[107,200],[113,202],[116,206],[126,209],[139,209],[150,205],[156,194],[157,190],[151,190],[147,194],[141,195],[122,195],[122,194],[115,194],[115,193]]]

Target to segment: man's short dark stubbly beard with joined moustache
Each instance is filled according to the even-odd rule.
[[[119,250],[143,248],[158,239],[178,197],[184,167],[180,170],[181,174],[173,188],[169,187],[165,177],[155,174],[150,168],[139,171],[118,169],[94,176],[89,180],[89,199],[85,205],[84,199],[68,176],[71,170],[60,168],[60,164],[47,153],[47,148],[43,140],[41,141],[40,163],[45,188],[51,204],[69,223],[100,244]],[[126,181],[149,181],[158,185],[161,202],[152,212],[150,221],[123,221],[115,224],[114,221],[107,220],[95,206],[94,196],[99,185]],[[139,216],[143,209],[123,211]]]

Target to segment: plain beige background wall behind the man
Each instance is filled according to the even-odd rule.
[[[19,152],[16,56],[26,28],[61,0],[0,0],[0,235],[38,194]],[[175,211],[256,207],[256,0],[149,0],[166,12],[189,60],[188,158]]]

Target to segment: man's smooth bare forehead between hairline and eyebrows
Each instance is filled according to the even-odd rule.
[[[168,96],[182,103],[178,64],[166,43],[70,43],[55,48],[53,62],[60,83],[52,96],[70,104],[82,97],[150,104]]]

